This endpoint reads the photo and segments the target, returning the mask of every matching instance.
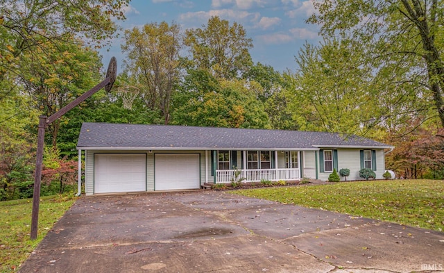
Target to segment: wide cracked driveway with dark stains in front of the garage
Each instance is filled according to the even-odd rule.
[[[444,233],[194,191],[83,197],[20,272],[431,272]]]

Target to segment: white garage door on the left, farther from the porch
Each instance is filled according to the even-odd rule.
[[[146,190],[146,154],[94,154],[94,193]]]

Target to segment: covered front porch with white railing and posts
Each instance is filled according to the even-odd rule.
[[[211,151],[213,183],[301,179],[300,151]]]

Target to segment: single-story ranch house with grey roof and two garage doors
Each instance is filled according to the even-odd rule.
[[[204,183],[328,179],[350,169],[360,179],[368,167],[384,174],[384,149],[368,138],[338,133],[197,126],[83,123],[85,192],[198,189]],[[387,150],[388,151],[388,150]]]

